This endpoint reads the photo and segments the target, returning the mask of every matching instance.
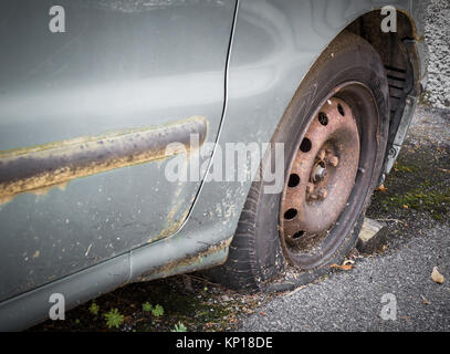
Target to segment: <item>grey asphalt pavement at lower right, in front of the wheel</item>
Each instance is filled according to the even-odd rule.
[[[450,331],[450,228],[423,227],[423,235],[411,235],[391,254],[365,259],[348,273],[273,300],[244,320],[240,330]],[[437,266],[447,275],[444,284],[430,277]],[[386,294],[395,298],[383,303]],[[384,306],[395,303],[396,319],[384,320]]]

